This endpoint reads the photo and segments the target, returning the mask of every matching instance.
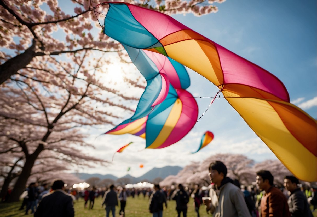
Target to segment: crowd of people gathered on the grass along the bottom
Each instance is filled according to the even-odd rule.
[[[31,210],[36,217],[74,216],[75,200],[81,197],[85,200],[84,208],[93,209],[95,198],[102,197],[101,206],[105,206],[106,217],[110,213],[115,217],[119,204],[118,213],[124,217],[127,198],[140,195],[144,199],[148,197],[148,210],[153,217],[163,216],[169,200],[176,201],[178,217],[186,217],[190,198],[197,217],[201,206],[213,217],[313,217],[312,212],[317,208],[316,189],[303,189],[292,175],[285,177],[283,189],[275,187],[274,177],[267,170],[255,174],[256,186],[240,186],[236,180],[227,177],[226,166],[215,161],[209,166],[209,177],[209,188],[199,185],[184,187],[180,183],[177,188],[160,188],[159,184],[155,184],[153,188],[126,189],[111,184],[107,189],[92,187],[67,191],[62,180],[55,180],[50,188],[47,184],[38,187],[37,183],[30,183],[20,209],[25,207],[25,214]]]

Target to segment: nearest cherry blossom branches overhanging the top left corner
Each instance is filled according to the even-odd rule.
[[[146,8],[172,15],[193,13],[200,16],[217,12],[213,3],[224,0],[169,0],[155,2],[127,1]],[[36,65],[36,57],[76,53],[80,50],[120,51],[122,47],[102,32],[92,34],[95,26],[100,28],[98,18],[107,11],[97,0],[72,0],[70,6],[75,15],[67,14],[57,0],[0,0],[1,41],[9,51],[0,52],[0,84],[25,68]],[[70,3],[69,3],[70,4]],[[68,8],[69,8],[68,4]],[[102,6],[102,5],[101,5]],[[69,11],[69,10],[68,10]],[[101,17],[100,17],[101,16]],[[101,29],[101,28],[100,28]],[[55,33],[61,34],[57,39]],[[94,35],[94,36],[93,36]],[[14,38],[17,40],[14,40]],[[60,36],[59,36],[60,37]],[[15,56],[14,56],[15,55]]]

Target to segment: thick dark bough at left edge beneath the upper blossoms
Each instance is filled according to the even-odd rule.
[[[31,47],[26,49],[24,53],[18,54],[0,65],[0,84],[31,62],[33,57],[36,56],[35,44],[36,41],[33,39]]]

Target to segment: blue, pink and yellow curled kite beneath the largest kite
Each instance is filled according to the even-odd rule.
[[[146,148],[164,148],[182,139],[195,125],[198,106],[185,89],[190,79],[184,66],[162,54],[124,45],[147,86],[134,115],[108,134],[131,133],[146,139]]]

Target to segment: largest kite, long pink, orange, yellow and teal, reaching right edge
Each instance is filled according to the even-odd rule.
[[[204,76],[288,170],[317,181],[317,121],[289,102],[278,78],[168,15],[129,3],[103,4],[109,4],[105,34]]]

